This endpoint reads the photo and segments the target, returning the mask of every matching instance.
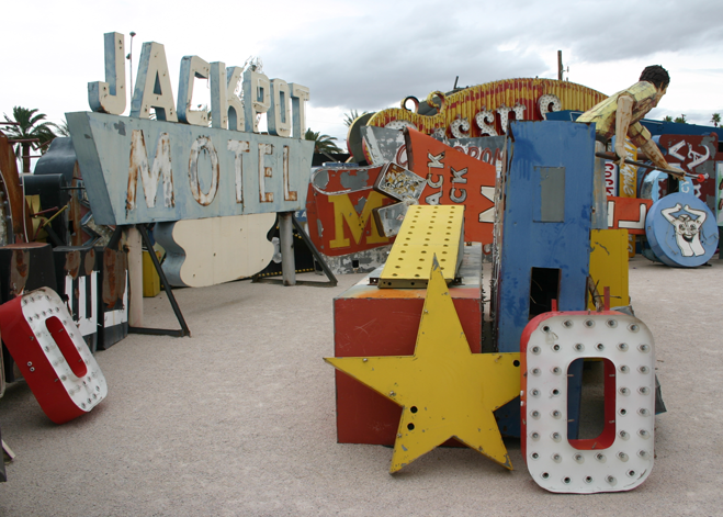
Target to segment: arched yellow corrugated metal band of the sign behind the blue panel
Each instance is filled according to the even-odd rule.
[[[407,123],[427,135],[437,131],[450,138],[496,136],[507,133],[510,113],[515,113],[516,120],[541,121],[551,108],[552,111],[587,111],[608,97],[574,82],[523,78],[487,82],[450,95],[437,92],[437,95],[443,102],[434,115],[389,108],[377,112],[368,125]]]

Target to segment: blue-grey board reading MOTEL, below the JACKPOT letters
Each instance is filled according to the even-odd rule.
[[[306,204],[310,141],[103,113],[66,117],[98,224],[287,212]],[[170,182],[163,181],[163,142],[170,148]],[[143,161],[138,154],[151,176],[146,181],[140,171],[133,179],[131,164]],[[147,193],[149,187],[157,188],[155,196]]]

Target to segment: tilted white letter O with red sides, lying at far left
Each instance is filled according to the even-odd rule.
[[[0,306],[3,342],[45,414],[64,424],[108,395],[105,376],[72,316],[52,289]]]

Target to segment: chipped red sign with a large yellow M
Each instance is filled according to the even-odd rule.
[[[372,210],[395,202],[373,190],[382,167],[320,168],[306,200],[309,237],[326,256],[337,257],[392,244]]]

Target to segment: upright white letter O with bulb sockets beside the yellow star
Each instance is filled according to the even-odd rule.
[[[640,319],[612,311],[533,318],[520,341],[522,454],[550,492],[635,488],[653,469],[655,350]],[[578,359],[605,362],[605,427],[567,438],[567,371]]]

